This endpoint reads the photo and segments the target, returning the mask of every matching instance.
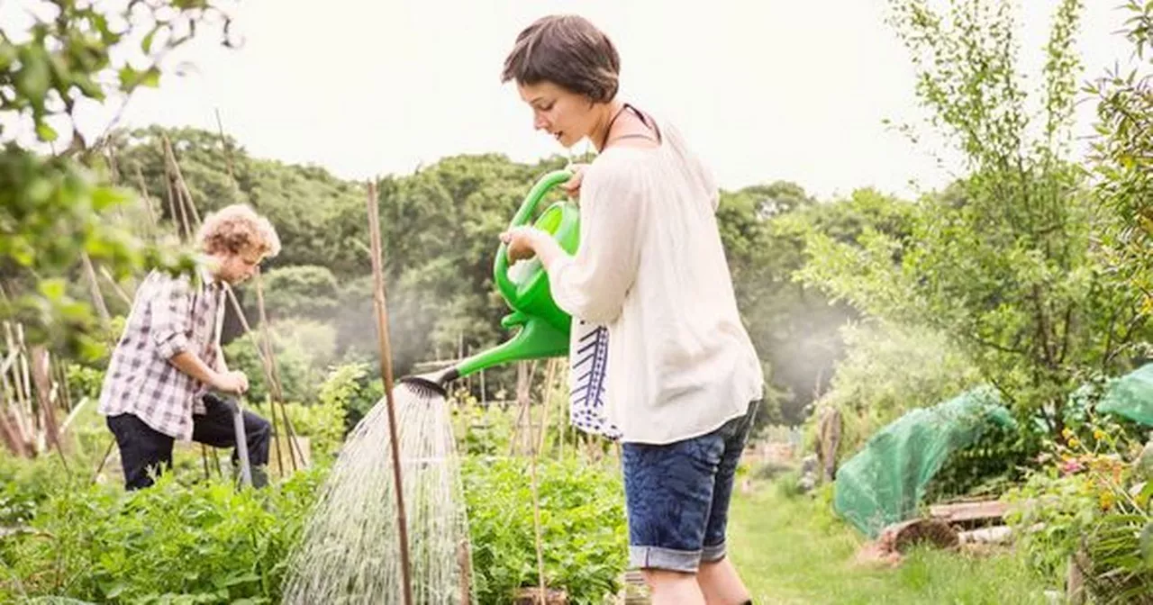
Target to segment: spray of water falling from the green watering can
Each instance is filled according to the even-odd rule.
[[[444,398],[400,383],[400,432],[414,602],[474,603],[460,461]],[[300,546],[286,604],[402,603],[395,494],[384,400],[349,434]]]

